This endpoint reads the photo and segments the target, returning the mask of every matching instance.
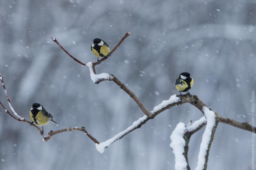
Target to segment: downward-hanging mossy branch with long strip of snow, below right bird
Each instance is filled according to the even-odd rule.
[[[219,122],[219,118],[216,112],[211,111],[206,106],[203,106],[202,111],[205,114],[207,124],[205,132],[203,133],[202,142],[198,154],[197,167],[195,168],[195,170],[206,170],[209,151]]]

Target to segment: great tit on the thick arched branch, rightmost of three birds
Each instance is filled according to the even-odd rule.
[[[181,73],[175,81],[175,86],[176,86],[176,89],[179,91],[179,93],[181,94],[181,92],[187,92],[189,96],[191,95],[188,92],[188,90],[191,89],[193,84],[194,84],[194,80],[190,76],[190,74],[187,72]]]

